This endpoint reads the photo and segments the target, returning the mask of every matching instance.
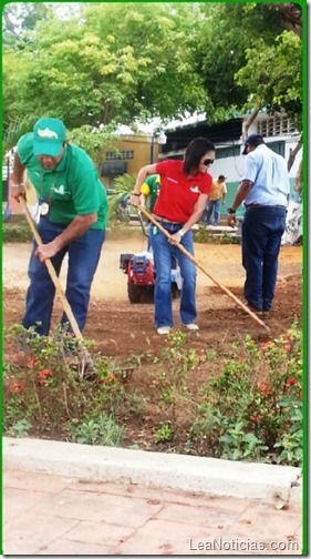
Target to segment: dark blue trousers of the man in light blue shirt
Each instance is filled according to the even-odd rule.
[[[274,297],[278,257],[287,211],[280,206],[247,209],[242,222],[245,298],[258,311],[270,311]]]

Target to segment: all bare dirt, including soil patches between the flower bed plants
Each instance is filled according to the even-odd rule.
[[[194,418],[190,418],[188,407],[178,409],[178,428],[175,429],[173,443],[155,441],[155,433],[163,419],[169,419],[169,409],[163,410],[158,404],[155,379],[163,372],[160,356],[167,347],[166,336],[158,336],[154,327],[153,303],[131,304],[127,298],[126,275],[120,270],[120,254],[136,253],[145,250],[144,240],[107,240],[99,270],[93,283],[92,299],[84,337],[92,339],[92,353],[103,356],[112,367],[121,370],[133,368],[131,382],[126,384],[126,394],[141,395],[144,398],[144,411],[138,418],[125,413],[118,420],[124,427],[122,446],[144,448],[147,450],[185,451],[185,445]],[[3,246],[3,323],[4,326],[20,323],[28,285],[27,265],[30,254],[28,244],[6,244]],[[240,263],[239,245],[197,244],[198,262],[221,285],[242,301],[243,268]],[[215,286],[203,272],[198,271],[197,287],[197,323],[199,332],[186,333],[185,352],[195,349],[198,357],[204,357],[209,350],[217,355],[212,363],[205,362],[190,370],[188,389],[194,402],[197,402],[199,390],[208,377],[218,375],[224,367],[226,355],[230,355],[231,343],[240,341],[250,334],[258,343],[283,334],[294,318],[302,317],[301,305],[301,270],[302,248],[284,246],[280,254],[279,276],[274,299],[273,317],[269,319],[270,331],[265,329],[245,313],[224,291]],[[65,280],[65,266],[61,275]],[[179,299],[174,299],[175,327],[180,327],[178,317]],[[54,324],[62,313],[56,301],[53,313]],[[11,348],[6,347],[9,356]],[[10,362],[10,358],[9,358]],[[165,362],[167,363],[167,362]],[[167,366],[167,365],[164,365]],[[168,372],[167,372],[168,373]],[[165,373],[166,374],[166,373]],[[165,415],[166,414],[166,415]],[[189,416],[189,417],[188,417]],[[176,419],[175,419],[176,420]],[[66,440],[61,429],[37,434],[59,440]],[[187,450],[188,451],[188,450]],[[205,446],[193,447],[194,453],[214,456]]]

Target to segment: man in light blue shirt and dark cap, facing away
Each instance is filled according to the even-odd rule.
[[[286,230],[289,174],[286,160],[270,150],[259,134],[247,138],[242,155],[247,155],[243,175],[228,209],[228,225],[236,224],[236,210],[243,202],[245,298],[249,307],[267,314],[272,308],[281,237]]]

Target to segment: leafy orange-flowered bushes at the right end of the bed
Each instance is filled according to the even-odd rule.
[[[302,459],[302,347],[293,327],[257,347],[245,338],[243,360],[228,360],[205,387],[189,440],[217,445],[216,456],[299,466]]]

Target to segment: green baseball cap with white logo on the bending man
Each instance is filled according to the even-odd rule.
[[[63,148],[66,129],[59,119],[42,118],[33,126],[33,154],[56,157]]]

